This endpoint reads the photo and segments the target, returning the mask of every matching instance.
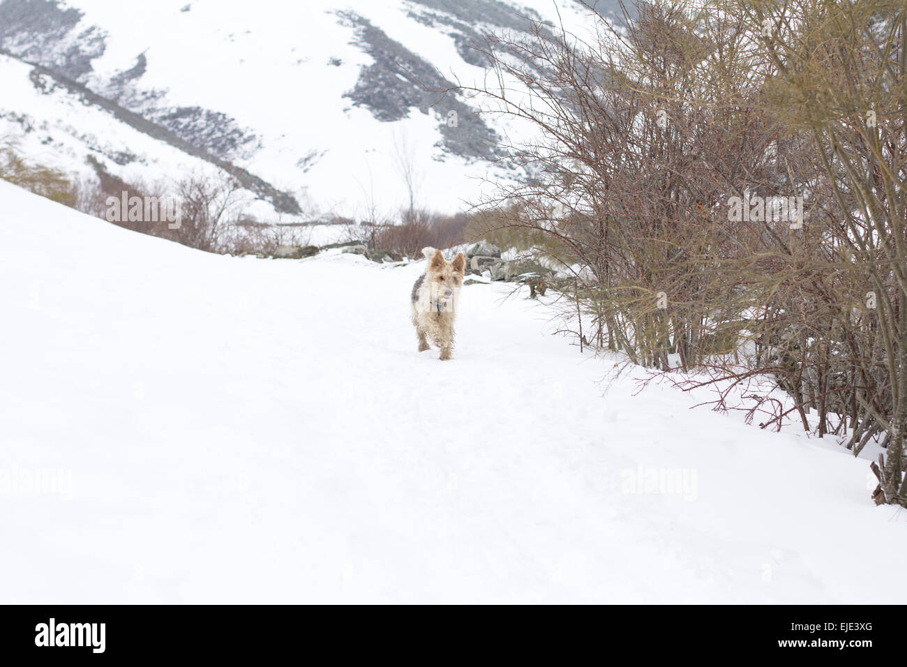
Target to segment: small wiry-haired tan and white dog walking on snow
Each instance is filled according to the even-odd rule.
[[[422,250],[428,267],[413,285],[413,325],[419,338],[419,351],[428,349],[429,339],[439,348],[442,361],[451,358],[453,319],[463,286],[466,259],[459,253],[453,261],[444,260],[441,250]]]

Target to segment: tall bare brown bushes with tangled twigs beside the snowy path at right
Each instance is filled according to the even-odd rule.
[[[657,0],[638,15],[591,44],[543,26],[492,42],[489,80],[535,94],[471,92],[543,140],[516,147],[532,181],[470,234],[570,268],[580,345],[652,377],[696,371],[684,388],[774,378],[793,405],[717,398],[762,427],[799,417],[854,452],[884,434],[874,497],[907,505],[907,10]]]

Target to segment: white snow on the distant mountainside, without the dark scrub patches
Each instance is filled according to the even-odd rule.
[[[190,11],[180,11],[186,5]],[[560,12],[566,25],[580,32],[590,21],[588,10],[572,1],[512,5],[521,13],[521,5],[529,6],[548,20]],[[97,26],[105,35],[104,53],[93,61],[93,74],[85,82],[89,88],[102,92],[112,76],[131,69],[144,54],[147,71],[136,82],[138,88],[161,92],[161,107],[201,106],[249,128],[261,148],[250,159],[233,162],[291,192],[306,209],[358,219],[372,209],[383,217],[398,213],[407,201],[395,163],[402,142],[413,147],[414,168],[422,180],[417,203],[432,211],[467,209],[493,191],[488,181],[514,175],[441,152],[436,147],[440,118],[434,111],[411,109],[405,119],[382,123],[344,97],[356,85],[360,68],[374,61],[356,45],[356,31],[341,24],[337,11],[364,16],[451,81],[485,81],[483,69],[457,53],[444,26],[420,23],[401,0],[258,0],[254,7],[245,0],[69,0],[64,6],[83,12],[78,31]],[[340,64],[329,64],[331,59]],[[89,173],[86,153],[100,158],[101,148],[128,149],[136,162],[121,166],[101,158],[110,172],[126,180],[210,172],[210,165],[141,136],[109,113],[80,108],[76,95],[38,92],[29,71],[0,56],[0,83],[7,92],[0,100],[0,137],[8,133],[23,139],[35,157],[50,153],[49,162],[84,175]],[[18,123],[3,119],[4,114],[23,113],[41,132],[29,135]],[[528,132],[526,123],[500,115],[484,119],[513,141]],[[47,142],[53,151],[47,150]],[[308,157],[312,161],[304,168],[301,161]],[[251,212],[267,221],[275,217],[261,206]],[[314,217],[310,212],[300,220]]]

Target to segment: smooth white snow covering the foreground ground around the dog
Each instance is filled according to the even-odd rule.
[[[209,255],[3,181],[0,201],[0,602],[905,592],[877,585],[907,533],[865,461],[605,387],[613,361],[524,293],[464,288],[440,362],[408,321],[422,262]]]

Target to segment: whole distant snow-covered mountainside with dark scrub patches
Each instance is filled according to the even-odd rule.
[[[590,11],[576,0],[0,0],[0,136],[67,171],[91,173],[92,155],[127,180],[229,162],[297,218],[395,211],[404,161],[418,203],[453,212],[483,179],[514,175],[493,159],[520,129],[424,88],[481,83],[483,35],[530,19],[581,31]]]

